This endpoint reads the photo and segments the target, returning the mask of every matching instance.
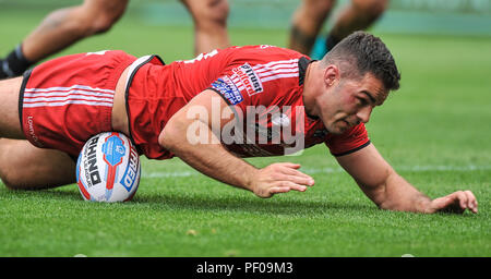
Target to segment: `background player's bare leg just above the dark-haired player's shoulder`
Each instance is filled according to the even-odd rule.
[[[335,2],[335,0],[302,0],[291,19],[288,48],[310,54],[315,38]]]

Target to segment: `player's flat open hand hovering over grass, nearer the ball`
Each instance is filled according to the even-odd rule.
[[[252,191],[259,197],[272,197],[291,190],[304,192],[315,182],[313,178],[299,171],[299,168],[300,165],[291,162],[270,165],[259,170],[252,181]]]

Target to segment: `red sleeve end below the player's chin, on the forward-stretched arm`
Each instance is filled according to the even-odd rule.
[[[354,126],[340,135],[332,135],[324,142],[332,155],[339,157],[360,150],[370,144],[363,123]]]

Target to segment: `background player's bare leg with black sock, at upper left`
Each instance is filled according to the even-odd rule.
[[[77,40],[108,31],[124,13],[128,0],[85,0],[48,14],[22,44],[0,60],[0,78],[27,68]]]

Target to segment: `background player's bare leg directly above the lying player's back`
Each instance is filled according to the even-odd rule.
[[[194,53],[227,48],[229,4],[227,0],[181,0],[194,21]]]

